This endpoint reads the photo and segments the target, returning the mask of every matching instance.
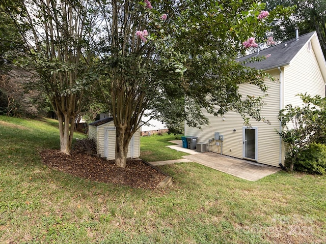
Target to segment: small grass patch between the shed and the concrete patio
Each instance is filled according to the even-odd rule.
[[[188,154],[167,147],[168,145],[175,145],[169,141],[180,139],[176,139],[174,135],[167,133],[163,135],[142,136],[140,157],[147,162],[182,159],[182,156]]]

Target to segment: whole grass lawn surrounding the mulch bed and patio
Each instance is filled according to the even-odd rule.
[[[102,184],[42,165],[55,124],[0,116],[0,243],[326,243],[325,176],[251,182],[181,163],[161,167],[169,189]],[[166,140],[142,138],[142,154],[170,159]]]

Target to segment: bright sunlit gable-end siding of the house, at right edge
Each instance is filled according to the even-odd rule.
[[[318,65],[314,49],[307,44],[284,68],[284,105],[302,106],[297,94],[325,96],[325,83]]]

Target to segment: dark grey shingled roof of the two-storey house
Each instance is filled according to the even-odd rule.
[[[260,50],[247,56],[238,58],[239,62],[251,57],[265,57],[265,60],[248,63],[246,66],[256,68],[257,70],[269,70],[277,67],[288,65],[300,49],[309,41],[315,32],[311,32],[299,37],[299,40],[291,39],[278,45]]]

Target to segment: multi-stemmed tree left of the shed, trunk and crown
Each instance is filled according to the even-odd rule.
[[[15,64],[35,74],[30,88],[47,95],[59,120],[60,149],[69,155],[74,120],[91,72],[96,11],[90,0],[16,0],[1,7],[11,16],[24,51]]]

